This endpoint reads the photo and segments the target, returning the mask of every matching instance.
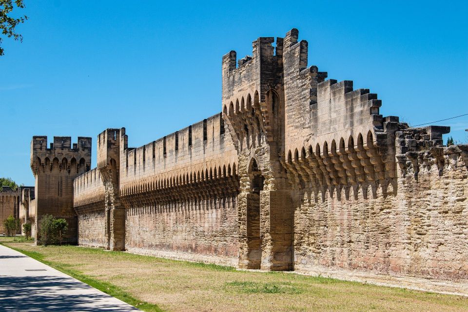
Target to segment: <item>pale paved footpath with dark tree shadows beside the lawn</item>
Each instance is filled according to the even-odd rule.
[[[140,311],[0,245],[0,311]]]

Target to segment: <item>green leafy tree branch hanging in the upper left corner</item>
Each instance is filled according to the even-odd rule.
[[[18,18],[12,17],[10,13],[15,5],[19,8],[24,8],[23,0],[0,0],[0,31],[2,35],[22,42],[23,36],[16,33],[15,27],[20,23],[24,23],[28,17],[25,15]],[[0,56],[4,54],[1,43],[2,39],[0,38]]]

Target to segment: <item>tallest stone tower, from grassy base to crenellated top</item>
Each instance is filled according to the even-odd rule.
[[[273,47],[273,37],[258,38],[252,57],[239,59],[237,68],[235,51],[223,57],[222,109],[239,161],[239,267],[248,269],[292,270],[292,191],[280,162],[283,41],[277,38]],[[320,73],[317,79],[325,77]]]

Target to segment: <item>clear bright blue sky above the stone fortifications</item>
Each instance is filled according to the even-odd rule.
[[[0,176],[34,184],[31,137],[126,127],[140,146],[221,111],[221,57],[299,29],[309,65],[416,125],[468,113],[466,1],[33,1],[0,58]],[[18,11],[17,11],[18,12]],[[468,117],[437,123],[466,141]]]

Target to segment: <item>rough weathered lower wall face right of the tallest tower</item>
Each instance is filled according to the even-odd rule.
[[[445,290],[466,292],[467,165],[460,152],[445,157],[442,171],[432,162],[417,179],[409,170],[387,185],[296,194],[294,269],[374,281],[386,279],[373,274],[419,277],[423,288],[451,281],[459,289]]]

